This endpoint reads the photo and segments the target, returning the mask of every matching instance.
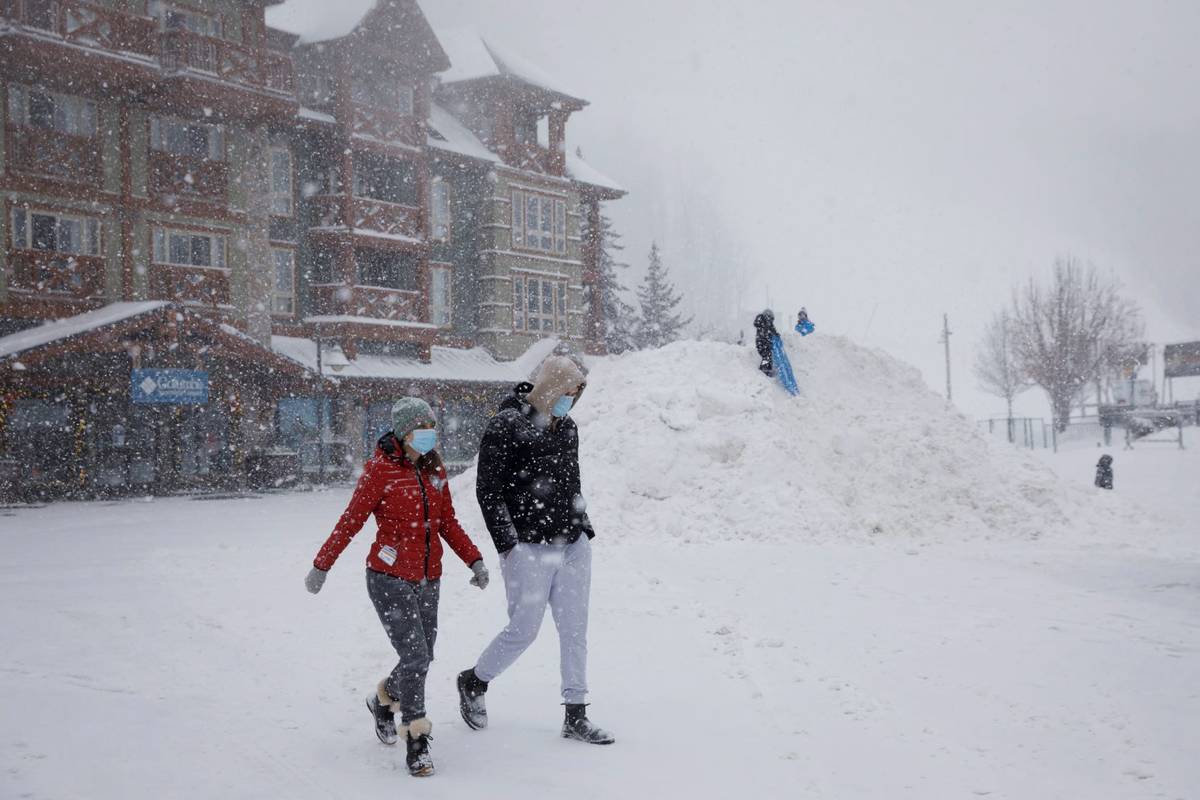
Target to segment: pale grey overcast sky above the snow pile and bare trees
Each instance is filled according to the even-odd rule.
[[[970,374],[985,317],[1056,254],[1200,338],[1198,2],[421,1],[592,101],[568,136],[631,191],[634,269],[652,239],[692,260],[698,217],[746,311],[805,305],[940,390],[947,312],[968,414],[1002,408]],[[734,296],[668,266],[703,314]]]

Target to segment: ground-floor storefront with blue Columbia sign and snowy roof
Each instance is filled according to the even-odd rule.
[[[0,500],[258,492],[350,479],[397,398],[434,409],[451,471],[553,347],[430,361],[311,339],[260,344],[163,302],[114,303],[0,337]],[[336,363],[341,369],[324,365]]]

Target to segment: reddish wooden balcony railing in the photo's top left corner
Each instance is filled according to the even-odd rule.
[[[4,16],[64,41],[146,58],[158,54],[157,23],[83,0],[0,0]]]

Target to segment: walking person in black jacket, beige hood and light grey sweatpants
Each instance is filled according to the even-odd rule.
[[[533,644],[550,606],[558,628],[563,736],[594,745],[614,741],[587,717],[588,596],[595,536],[580,486],[580,439],[568,414],[586,378],[566,355],[542,362],[500,404],[479,450],[475,494],[500,554],[509,624],[470,669],[458,674],[463,721],[487,727],[488,685]]]

